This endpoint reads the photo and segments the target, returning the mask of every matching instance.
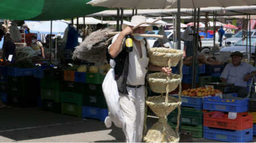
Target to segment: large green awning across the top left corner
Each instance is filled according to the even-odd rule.
[[[0,19],[57,20],[107,10],[86,5],[90,0],[1,0]]]

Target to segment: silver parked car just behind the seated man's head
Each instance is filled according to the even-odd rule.
[[[249,53],[249,40],[247,42],[247,53]],[[252,37],[251,38],[251,53],[254,57],[254,53],[255,53],[255,46],[256,46],[256,37]],[[238,42],[236,42],[234,45],[232,46],[225,46],[222,49],[220,49],[220,53],[225,53],[227,51],[230,52],[234,52],[234,51],[240,51],[241,53],[243,53],[244,55],[246,54],[246,40],[239,40]]]

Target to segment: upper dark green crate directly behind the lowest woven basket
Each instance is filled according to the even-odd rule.
[[[187,107],[181,108],[181,124],[203,125],[203,111]],[[177,109],[167,116],[168,122],[177,123]]]

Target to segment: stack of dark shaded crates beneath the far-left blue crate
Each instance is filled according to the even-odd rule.
[[[37,96],[34,76],[8,76],[7,95],[14,106],[36,106]]]

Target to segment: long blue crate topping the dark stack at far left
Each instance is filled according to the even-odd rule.
[[[35,68],[9,67],[9,76],[34,76]]]

